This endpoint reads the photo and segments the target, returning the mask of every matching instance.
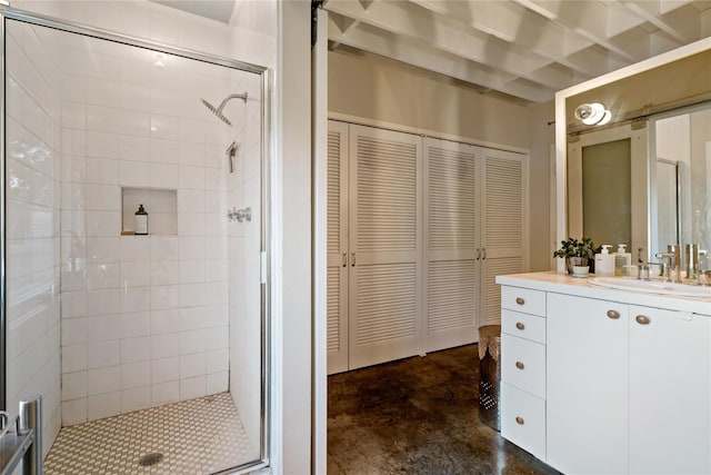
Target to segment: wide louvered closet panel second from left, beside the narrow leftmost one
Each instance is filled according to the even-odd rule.
[[[419,353],[421,144],[350,127],[351,369]]]

